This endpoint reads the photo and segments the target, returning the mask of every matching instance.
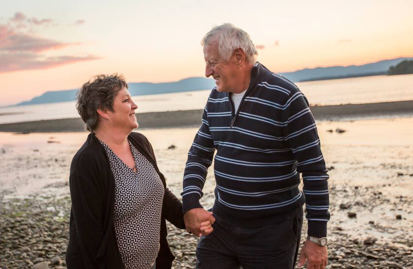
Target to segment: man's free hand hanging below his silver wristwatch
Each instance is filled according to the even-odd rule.
[[[303,267],[307,260],[308,269],[324,269],[328,264],[327,255],[327,246],[321,247],[307,240],[301,248],[297,267]]]

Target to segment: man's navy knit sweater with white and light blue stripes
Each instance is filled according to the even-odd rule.
[[[188,153],[184,212],[202,208],[215,150],[214,214],[240,227],[261,227],[301,217],[306,203],[308,234],[327,235],[326,164],[308,101],[292,82],[257,63],[238,111],[228,93],[212,89]]]

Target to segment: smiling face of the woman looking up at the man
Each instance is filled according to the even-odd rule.
[[[114,111],[107,110],[111,126],[121,129],[133,130],[138,128],[135,116],[135,109],[138,106],[132,101],[129,91],[125,88],[118,91],[113,100],[112,108]]]

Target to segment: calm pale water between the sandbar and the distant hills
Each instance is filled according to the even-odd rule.
[[[413,100],[413,74],[296,83],[311,104],[337,105]],[[138,113],[202,109],[210,90],[133,97]],[[0,124],[79,117],[75,103],[0,108]]]

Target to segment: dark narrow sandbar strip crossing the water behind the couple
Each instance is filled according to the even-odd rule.
[[[340,120],[346,118],[388,116],[412,113],[413,100],[382,102],[371,104],[345,104],[333,106],[311,106],[316,120]],[[165,112],[138,113],[139,128],[164,128],[199,126],[203,109],[178,110]],[[80,118],[43,120],[23,123],[0,124],[0,132],[80,132],[84,123]]]

